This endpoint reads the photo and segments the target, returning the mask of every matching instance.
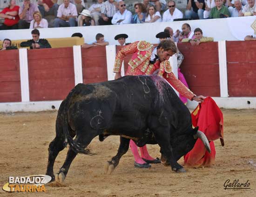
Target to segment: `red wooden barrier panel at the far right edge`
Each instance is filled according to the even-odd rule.
[[[256,96],[255,41],[227,41],[229,96]]]

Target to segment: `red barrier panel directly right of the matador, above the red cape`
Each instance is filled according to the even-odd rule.
[[[178,48],[184,56],[180,69],[189,89],[196,95],[220,96],[218,43],[182,43]]]

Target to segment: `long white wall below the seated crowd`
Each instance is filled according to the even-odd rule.
[[[243,40],[246,35],[254,34],[254,30],[250,25],[255,20],[256,16],[247,16],[164,23],[47,28],[40,29],[40,38],[65,38],[71,37],[75,32],[81,32],[85,42],[90,42],[95,40],[95,35],[97,33],[102,33],[109,44],[118,44],[114,39],[115,35],[126,33],[129,36],[127,42],[147,40],[151,43],[158,43],[158,39],[155,38],[155,35],[162,32],[165,27],[170,26],[175,31],[177,29],[181,30],[183,23],[189,23],[192,31],[194,31],[195,28],[200,27],[204,36],[214,37],[215,41]],[[9,38],[11,40],[32,39],[31,31],[31,29],[0,31],[0,40],[3,40],[4,38]]]

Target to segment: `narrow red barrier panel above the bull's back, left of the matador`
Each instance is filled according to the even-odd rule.
[[[108,81],[106,47],[81,49],[83,83]]]

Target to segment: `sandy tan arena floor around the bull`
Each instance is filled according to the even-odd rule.
[[[187,168],[175,173],[162,164],[137,169],[130,152],[124,155],[112,175],[103,174],[105,162],[117,153],[119,137],[104,142],[95,138],[94,156],[78,155],[67,174],[65,187],[46,185],[45,193],[7,193],[0,197],[252,197],[256,196],[256,110],[222,110],[224,140],[216,140],[216,164]],[[0,114],[0,187],[9,176],[44,174],[48,145],[55,136],[57,112]],[[159,146],[148,146],[152,156],[160,157]],[[67,149],[57,157],[54,172],[64,162]],[[183,163],[183,159],[179,160]],[[224,182],[249,180],[250,189],[224,190]]]

